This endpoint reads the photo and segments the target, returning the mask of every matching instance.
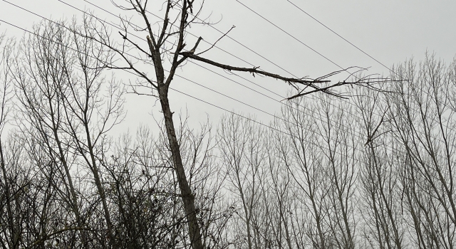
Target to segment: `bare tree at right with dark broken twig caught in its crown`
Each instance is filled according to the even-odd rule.
[[[400,161],[397,143],[391,139],[388,107],[380,92],[361,91],[356,98],[361,144],[361,216],[363,236],[371,246],[403,248],[405,228],[401,211]]]

